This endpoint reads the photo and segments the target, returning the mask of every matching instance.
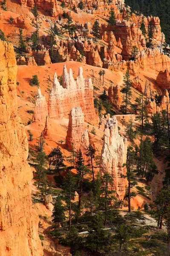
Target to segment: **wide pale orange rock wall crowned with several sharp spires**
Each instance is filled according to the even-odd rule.
[[[71,109],[76,106],[81,107],[85,121],[95,119],[92,80],[84,79],[83,68],[80,67],[75,81],[72,69],[67,72],[66,65],[64,65],[63,85],[59,83],[57,74],[54,75],[54,84],[49,94],[49,118],[68,117]]]

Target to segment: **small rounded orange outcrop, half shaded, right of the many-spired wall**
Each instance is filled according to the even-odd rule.
[[[121,87],[117,84],[111,84],[108,89],[109,102],[113,104],[116,108],[120,109],[122,105],[122,96]]]

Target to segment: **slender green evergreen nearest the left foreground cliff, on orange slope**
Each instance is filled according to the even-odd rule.
[[[38,189],[40,188],[40,181],[43,179],[43,177],[46,175],[46,154],[41,151],[38,152],[36,157],[36,173],[35,173],[35,179],[38,179]]]

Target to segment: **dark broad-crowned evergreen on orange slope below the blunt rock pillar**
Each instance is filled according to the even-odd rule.
[[[51,158],[51,165],[54,166],[55,173],[58,173],[61,177],[61,171],[65,167],[61,149],[58,146],[57,148],[53,148],[48,157]]]

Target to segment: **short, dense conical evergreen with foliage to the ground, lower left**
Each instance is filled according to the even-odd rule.
[[[55,199],[54,208],[52,211],[52,221],[58,222],[59,224],[66,219],[65,215],[65,207],[63,206],[61,202],[61,197],[57,197]]]

